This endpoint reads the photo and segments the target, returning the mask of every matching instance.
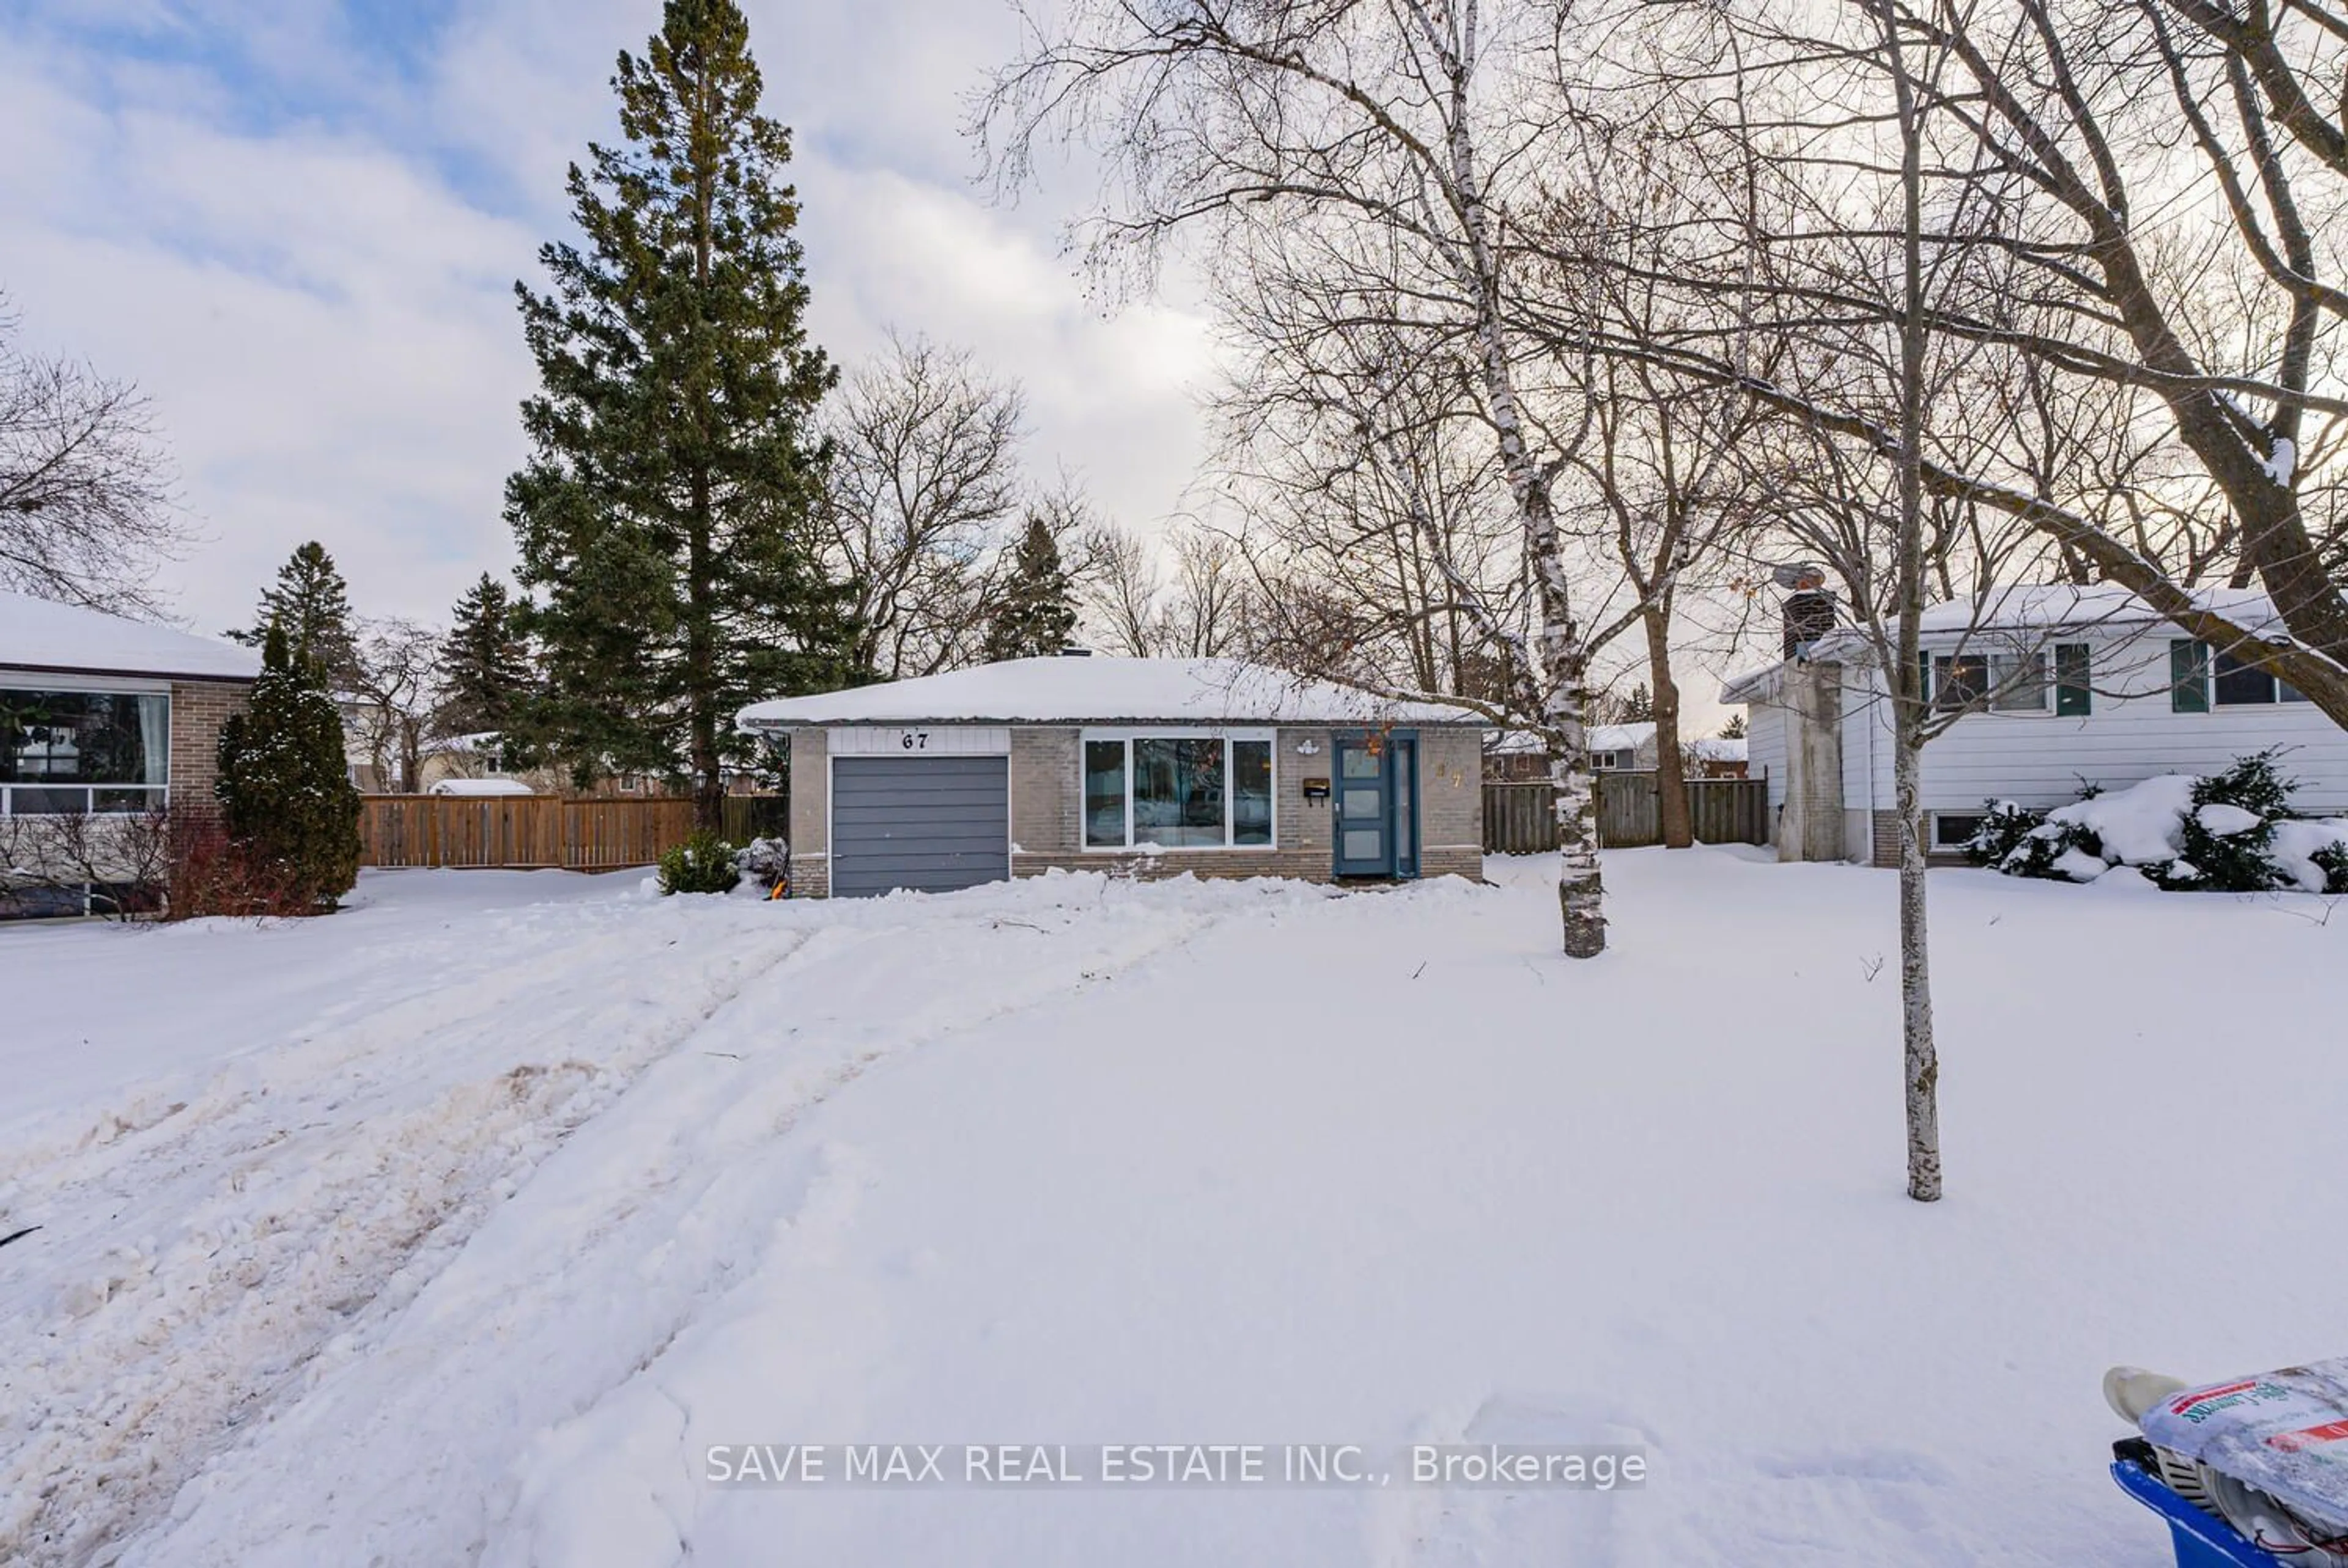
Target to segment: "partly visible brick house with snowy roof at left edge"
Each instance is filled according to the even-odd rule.
[[[106,845],[129,819],[211,810],[258,674],[251,648],[0,594],[0,915],[87,913],[127,876]]]

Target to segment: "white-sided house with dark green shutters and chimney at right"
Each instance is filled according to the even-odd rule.
[[[2261,594],[2205,589],[2256,631]],[[1918,622],[1928,697],[1954,723],[1923,749],[1928,847],[1956,857],[1986,800],[2066,805],[2083,784],[2217,772],[2280,746],[2299,807],[2348,810],[2348,732],[2289,685],[2207,648],[2113,587],[2015,587],[1942,603]],[[1897,864],[1892,730],[1883,671],[1850,629],[1728,681],[1749,709],[1752,770],[1768,777],[1780,859]]]

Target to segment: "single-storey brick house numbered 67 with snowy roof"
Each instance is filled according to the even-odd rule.
[[[791,753],[791,890],[1052,869],[1479,876],[1482,721],[1235,660],[1005,660],[758,702]]]

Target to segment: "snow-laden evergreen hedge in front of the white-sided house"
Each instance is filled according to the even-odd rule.
[[[2172,892],[2348,892],[2348,822],[2294,817],[2292,789],[2259,751],[2209,777],[2090,784],[2050,812],[1991,800],[1965,850],[1977,866],[2066,883],[2134,866]]]

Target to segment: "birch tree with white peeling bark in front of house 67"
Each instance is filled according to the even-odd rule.
[[[1479,615],[1510,650],[1507,707],[1550,746],[1561,944],[1606,946],[1590,772],[1590,624],[1554,486],[1571,408],[1536,397],[1538,350],[1517,336],[1526,272],[1512,239],[1533,150],[1552,134],[1554,35],[1505,0],[1073,0],[1024,14],[1028,42],[984,94],[974,129],[1017,188],[1068,136],[1108,171],[1085,225],[1106,275],[1148,279],[1195,237],[1216,265],[1301,235],[1374,258],[1406,310],[1355,322],[1470,369],[1531,587],[1531,629]],[[1557,418],[1552,418],[1557,415]]]

